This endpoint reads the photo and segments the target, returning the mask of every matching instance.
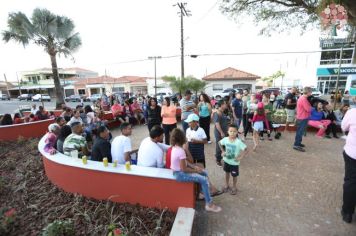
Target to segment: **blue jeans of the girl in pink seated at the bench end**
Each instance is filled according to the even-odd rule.
[[[183,171],[174,171],[173,175],[178,182],[199,183],[204,194],[205,203],[210,204],[213,201],[210,196],[208,174],[205,171],[199,174],[185,173]]]

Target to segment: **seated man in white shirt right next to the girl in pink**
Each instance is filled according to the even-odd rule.
[[[164,152],[170,147],[163,144],[163,128],[152,127],[150,137],[145,138],[138,148],[137,165],[164,168]]]

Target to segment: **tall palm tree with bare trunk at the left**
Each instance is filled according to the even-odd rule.
[[[59,108],[64,97],[56,56],[72,56],[82,44],[79,33],[74,32],[73,21],[65,16],[55,15],[47,9],[36,8],[31,20],[22,12],[9,13],[7,24],[8,30],[2,32],[6,43],[12,40],[26,47],[31,42],[43,47],[50,56],[57,96],[56,107]]]

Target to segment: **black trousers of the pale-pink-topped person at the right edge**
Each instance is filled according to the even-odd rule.
[[[356,206],[356,160],[344,151],[345,178],[342,211],[353,214]]]

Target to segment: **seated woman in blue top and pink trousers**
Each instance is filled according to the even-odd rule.
[[[316,137],[322,138],[324,137],[325,130],[328,128],[330,123],[331,123],[330,120],[324,119],[323,103],[318,102],[316,108],[315,107],[312,108],[308,125],[319,129],[318,132],[316,133]],[[330,138],[330,137],[326,136],[326,138]]]

